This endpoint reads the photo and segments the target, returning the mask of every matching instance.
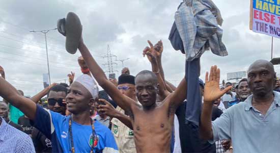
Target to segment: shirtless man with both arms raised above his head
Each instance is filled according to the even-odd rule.
[[[151,45],[151,44],[150,44]],[[153,47],[153,45],[151,45]],[[156,106],[156,95],[159,93],[157,75],[159,71],[144,70],[135,77],[136,96],[142,105],[122,94],[111,83],[103,70],[93,59],[87,46],[81,39],[78,49],[93,77],[131,118],[137,152],[170,152],[172,126],[177,107],[186,97],[187,83],[183,79],[178,88],[167,96],[161,105]]]

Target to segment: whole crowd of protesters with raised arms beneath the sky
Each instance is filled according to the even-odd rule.
[[[32,97],[9,84],[0,66],[0,152],[279,152],[280,84],[272,63],[257,60],[247,78],[220,84],[216,65],[205,81],[191,78],[200,73],[192,66],[201,66],[193,60],[199,64],[186,62],[176,87],[164,76],[161,40],[148,40],[143,50],[151,70],[132,75],[124,68],[118,79],[106,77],[82,36],[72,41],[83,74],[71,72],[69,84]]]

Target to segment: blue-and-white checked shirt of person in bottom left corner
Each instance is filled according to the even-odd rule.
[[[0,125],[0,152],[35,152],[31,137],[7,124],[2,118]]]

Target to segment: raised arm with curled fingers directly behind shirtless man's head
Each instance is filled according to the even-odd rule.
[[[163,82],[161,75],[159,73],[159,68],[157,65],[156,57],[153,55],[150,51],[153,50],[153,44],[148,40],[150,47],[146,47],[143,51],[144,55],[147,55],[148,60],[151,62],[152,65],[152,71],[156,74],[158,84],[159,84],[159,95],[164,99],[166,96],[170,94],[169,91],[167,91],[165,83]]]

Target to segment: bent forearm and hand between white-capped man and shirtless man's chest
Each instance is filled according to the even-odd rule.
[[[133,126],[131,123],[131,120],[129,116],[117,111],[113,105],[111,105],[107,100],[105,99],[99,99],[105,105],[99,105],[98,106],[98,112],[102,112],[105,115],[109,116],[110,118],[117,118],[119,119],[122,123],[124,123],[129,129],[133,130]]]

